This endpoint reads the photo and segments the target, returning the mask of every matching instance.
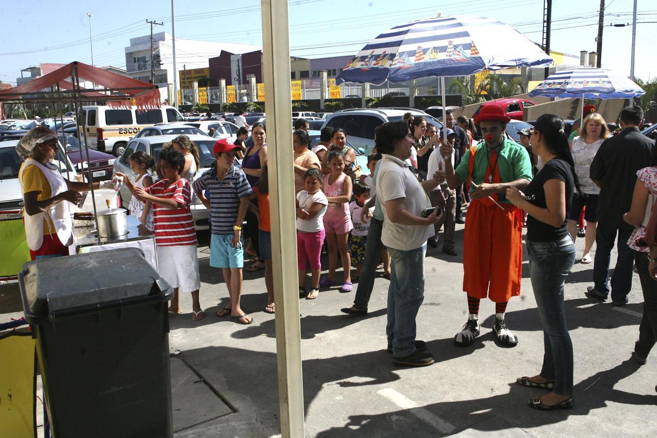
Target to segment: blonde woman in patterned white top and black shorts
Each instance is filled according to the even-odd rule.
[[[586,220],[586,237],[584,253],[581,263],[591,263],[591,248],[595,242],[595,233],[598,227],[597,209],[600,187],[595,185],[589,173],[591,162],[598,152],[600,144],[610,137],[606,122],[598,113],[592,113],[584,119],[581,135],[575,137],[572,142],[572,156],[575,162],[575,171],[581,184],[581,193],[575,194],[570,207],[568,219],[568,232],[573,238],[577,238],[577,221],[579,213],[586,207],[584,219]]]

